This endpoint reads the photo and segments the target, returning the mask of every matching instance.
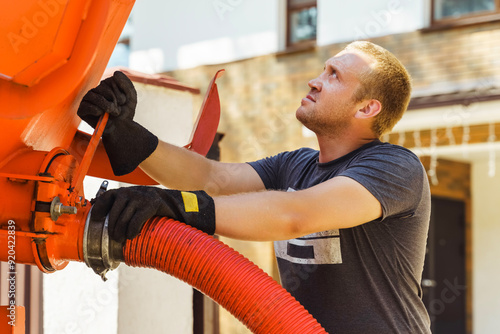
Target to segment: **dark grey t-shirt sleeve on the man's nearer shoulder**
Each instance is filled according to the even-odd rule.
[[[339,175],[354,179],[375,196],[382,206],[382,220],[413,214],[427,182],[417,156],[397,146],[375,148]]]

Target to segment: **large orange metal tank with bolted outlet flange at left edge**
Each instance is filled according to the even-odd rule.
[[[69,153],[80,122],[76,109],[101,79],[133,4],[2,1],[1,261],[52,272],[83,260],[88,209],[81,182],[88,166],[80,166],[88,141],[79,155]]]

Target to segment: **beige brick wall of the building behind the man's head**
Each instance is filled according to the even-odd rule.
[[[500,40],[500,23],[371,39],[405,64],[417,96],[487,89],[500,82],[500,44],[493,43],[496,40]],[[324,61],[345,45],[265,55],[169,74],[203,89],[218,69],[226,69],[218,81],[222,106],[219,129],[226,133],[221,142],[222,159],[250,161],[300,146],[315,147],[315,138],[296,121],[295,110],[309,91],[307,82],[319,75]],[[443,109],[442,117],[452,122],[466,114],[458,109],[451,109],[452,115],[450,109]]]

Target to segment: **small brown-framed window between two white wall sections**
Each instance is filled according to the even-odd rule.
[[[287,1],[287,46],[309,45],[316,41],[316,0]]]

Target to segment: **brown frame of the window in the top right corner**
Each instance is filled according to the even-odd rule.
[[[437,0],[430,1],[430,30],[447,29],[466,25],[480,24],[485,22],[500,21],[500,0],[495,0],[496,10],[494,12],[480,12],[468,14],[460,17],[450,17],[443,19],[435,18],[435,4]]]

